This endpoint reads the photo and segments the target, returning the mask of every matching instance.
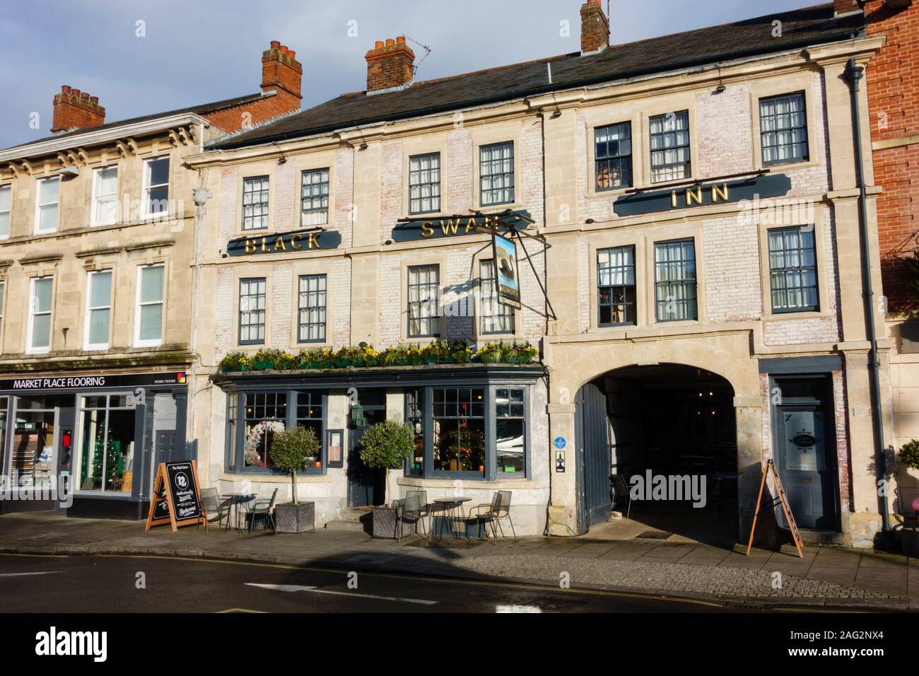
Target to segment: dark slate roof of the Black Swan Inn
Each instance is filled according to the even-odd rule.
[[[773,21],[782,22],[773,37]],[[208,149],[229,149],[333,132],[385,120],[402,120],[453,109],[488,105],[524,96],[688,68],[706,63],[784,52],[847,40],[861,34],[862,14],[834,17],[833,5],[807,7],[731,24],[689,30],[660,38],[612,45],[603,52],[580,52],[490,70],[416,82],[397,91],[343,94],[311,109],[214,139]],[[552,84],[547,63],[551,64]]]

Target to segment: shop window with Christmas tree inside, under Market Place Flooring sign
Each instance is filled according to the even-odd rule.
[[[128,395],[80,397],[80,490],[130,494],[134,415]]]

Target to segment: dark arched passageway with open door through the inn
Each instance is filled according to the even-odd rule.
[[[584,384],[575,398],[584,527],[735,541],[733,396],[720,375],[681,364],[628,366]],[[613,511],[630,518],[610,521]]]

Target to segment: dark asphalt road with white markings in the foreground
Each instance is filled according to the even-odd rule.
[[[142,574],[142,575],[141,575]],[[611,591],[150,556],[0,556],[4,613],[712,613]],[[141,582],[143,583],[141,585]]]

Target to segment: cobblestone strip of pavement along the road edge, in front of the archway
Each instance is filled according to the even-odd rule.
[[[451,563],[484,575],[539,579],[557,583],[562,571],[573,584],[611,585],[642,590],[692,591],[717,596],[762,598],[889,599],[887,594],[845,587],[815,579],[782,575],[773,589],[767,570],[739,567],[689,566],[644,561],[597,561],[566,556],[494,555]]]

